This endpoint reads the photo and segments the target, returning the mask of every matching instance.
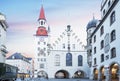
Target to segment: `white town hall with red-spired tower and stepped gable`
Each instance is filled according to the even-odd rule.
[[[36,43],[34,77],[88,78],[85,45],[71,26],[67,25],[61,35],[52,40],[43,6],[38,22],[39,26],[34,35]]]

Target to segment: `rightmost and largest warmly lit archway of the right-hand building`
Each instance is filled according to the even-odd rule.
[[[110,66],[110,77],[111,80],[119,81],[119,65],[117,63],[114,63]]]

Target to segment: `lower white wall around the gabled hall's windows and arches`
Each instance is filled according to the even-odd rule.
[[[50,55],[48,56],[48,75],[50,78],[55,78],[55,74],[60,70],[65,70],[69,73],[69,78],[74,77],[74,73],[76,71],[83,71],[85,73],[85,77],[88,77],[88,65],[87,65],[87,56],[86,52],[78,51],[78,52],[71,52],[72,54],[72,66],[66,66],[66,53],[67,51],[51,51]],[[55,66],[55,55],[60,55],[60,66]],[[83,56],[83,66],[78,66],[78,55]]]

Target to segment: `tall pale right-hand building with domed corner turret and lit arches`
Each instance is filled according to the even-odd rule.
[[[120,1],[102,0],[101,20],[87,25],[87,58],[90,79],[120,80]]]

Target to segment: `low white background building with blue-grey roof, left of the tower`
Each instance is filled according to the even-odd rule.
[[[33,76],[32,58],[27,58],[21,53],[14,53],[6,59],[6,63],[18,67],[18,75],[20,78]]]

